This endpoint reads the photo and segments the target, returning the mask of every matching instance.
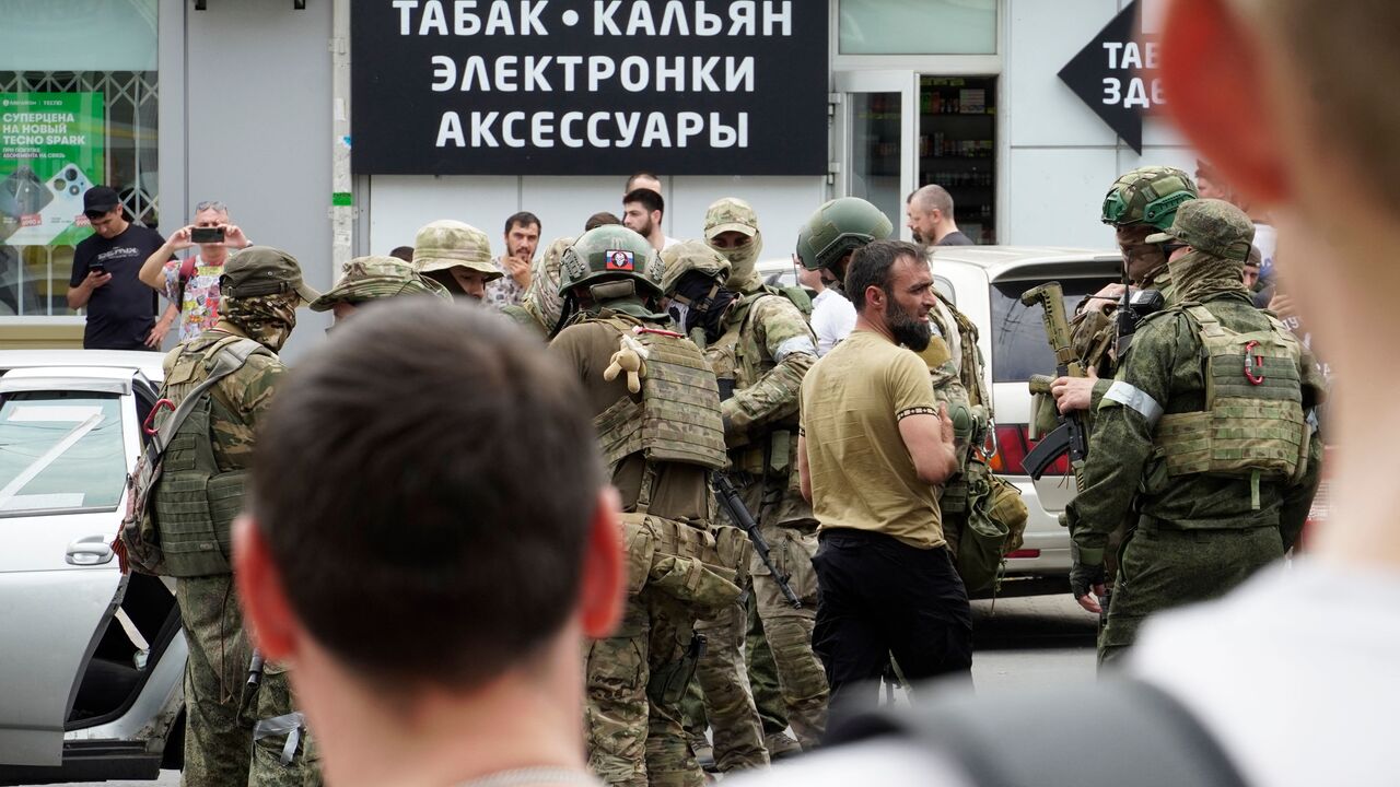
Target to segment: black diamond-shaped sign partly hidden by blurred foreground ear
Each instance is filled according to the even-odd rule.
[[[1142,153],[1142,116],[1163,104],[1156,57],[1156,36],[1142,34],[1133,0],[1060,69],[1060,78],[1128,147]]]

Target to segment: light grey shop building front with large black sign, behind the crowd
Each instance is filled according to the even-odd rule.
[[[1151,35],[1155,0],[11,0],[0,94],[77,102],[66,115],[102,129],[83,176],[118,185],[162,232],[218,199],[321,287],[339,260],[410,245],[434,218],[494,239],[529,210],[546,242],[577,235],[622,211],[637,169],[662,176],[671,237],[699,235],[721,196],[748,199],[769,259],[833,196],[869,199],[907,238],[904,197],[927,183],[977,242],[1105,248],[1096,213],[1120,172],[1194,162],[1151,115],[1138,153],[1091,106],[1092,80],[1077,95],[1060,77],[1137,6]],[[714,18],[720,32],[700,35]],[[1106,71],[1103,101],[1131,105],[1134,63],[1105,52],[1123,78]],[[364,92],[372,81],[428,109]],[[0,179],[29,183],[21,164],[0,158]],[[38,199],[63,204],[52,164],[29,168]],[[11,241],[0,344],[80,328],[64,300],[78,232]],[[316,333],[298,329],[290,354]]]

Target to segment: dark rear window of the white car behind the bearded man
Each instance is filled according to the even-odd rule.
[[[1106,279],[1060,279],[1064,287],[1065,316],[1074,307],[1098,293]],[[1054,353],[1046,339],[1044,316],[1039,305],[1021,304],[1021,293],[1044,281],[998,281],[991,286],[991,377],[995,382],[1025,382],[1032,374],[1054,374]]]

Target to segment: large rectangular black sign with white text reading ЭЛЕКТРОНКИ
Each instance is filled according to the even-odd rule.
[[[356,0],[351,63],[360,174],[826,174],[826,3]]]

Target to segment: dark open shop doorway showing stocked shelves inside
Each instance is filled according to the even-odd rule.
[[[918,80],[918,185],[953,197],[958,228],[997,242],[997,78]]]

